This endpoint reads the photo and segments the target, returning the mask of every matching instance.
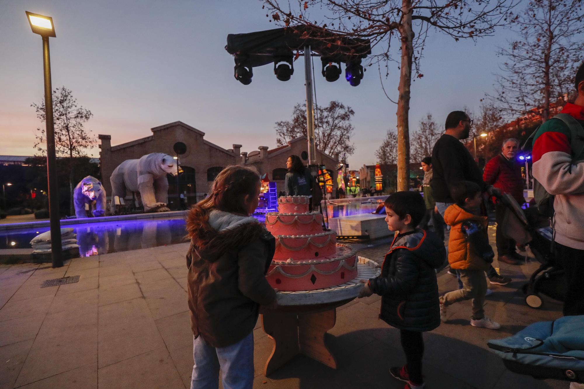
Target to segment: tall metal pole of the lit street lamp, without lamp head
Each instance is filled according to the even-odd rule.
[[[48,36],[43,36],[44,65],[44,113],[47,124],[47,179],[48,213],[51,226],[51,256],[53,268],[63,266],[61,247],[61,222],[59,220],[59,192],[57,185],[57,156],[55,152],[55,128],[53,122],[53,87],[51,86],[51,57],[48,52]]]

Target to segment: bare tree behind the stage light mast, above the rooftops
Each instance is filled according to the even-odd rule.
[[[318,150],[329,155],[337,153],[353,154],[355,148],[351,143],[353,124],[351,118],[355,112],[349,106],[332,101],[328,106],[318,106],[315,110],[315,143]],[[276,122],[276,143],[286,145],[291,139],[307,136],[306,105],[297,104],[292,112],[292,120]]]

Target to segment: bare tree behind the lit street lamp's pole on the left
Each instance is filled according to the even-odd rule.
[[[46,120],[44,99],[40,104],[32,103],[36,110],[37,117],[41,123]],[[55,128],[55,151],[57,157],[69,159],[69,192],[71,202],[69,211],[75,214],[73,204],[73,190],[77,183],[74,183],[75,157],[86,157],[86,151],[97,142],[85,128],[86,123],[93,114],[90,110],[82,106],[77,106],[77,99],[73,97],[72,92],[61,86],[53,91],[53,121]],[[37,128],[39,133],[36,134],[36,143],[34,147],[41,153],[46,154],[44,145],[46,145],[45,128]]]

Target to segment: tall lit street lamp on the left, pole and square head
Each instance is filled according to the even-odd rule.
[[[47,124],[47,179],[48,212],[51,226],[51,257],[53,268],[63,266],[61,248],[61,223],[59,221],[59,197],[57,186],[57,157],[55,155],[55,129],[53,122],[53,87],[51,86],[51,57],[48,51],[48,38],[55,37],[53,18],[26,11],[33,33],[43,37],[44,68],[44,113]]]

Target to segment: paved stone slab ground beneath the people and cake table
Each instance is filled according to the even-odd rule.
[[[389,244],[359,246],[360,255],[381,262]],[[189,388],[193,362],[187,247],[76,258],[59,269],[0,265],[0,389]],[[425,334],[427,388],[568,387],[510,373],[486,346],[488,339],[561,316],[557,301],[545,299],[541,310],[524,304],[517,289],[536,268],[534,262],[500,265],[513,282],[493,286],[485,308],[502,324],[500,331],[471,327],[470,302],[449,307],[450,322]],[[79,275],[80,280],[40,288],[44,280],[65,275]],[[456,287],[456,279],[445,270],[438,280],[441,293]],[[338,370],[297,356],[270,377],[263,376],[272,341],[258,323],[254,387],[402,388],[388,371],[404,363],[399,332],[378,319],[379,308],[378,296],[338,308],[336,325],[326,335]]]

